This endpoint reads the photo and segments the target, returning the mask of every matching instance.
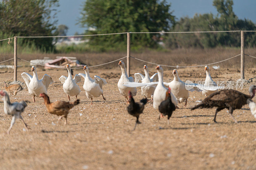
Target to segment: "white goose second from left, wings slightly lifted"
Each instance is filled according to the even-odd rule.
[[[79,83],[81,81],[81,77],[80,77],[80,75],[76,74],[74,79],[72,79],[70,65],[67,64],[66,67],[68,70],[68,77],[62,75],[62,76],[60,76],[59,80],[61,83],[63,83],[64,92],[68,94],[68,100],[70,101],[69,96],[76,96],[76,100],[77,100],[77,95],[79,95],[81,92],[77,83]]]

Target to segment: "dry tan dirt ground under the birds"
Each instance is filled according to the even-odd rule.
[[[127,113],[125,98],[118,91],[121,70],[117,64],[112,69],[89,69],[91,77],[99,75],[108,82],[103,86],[107,101],[94,98],[91,106],[82,80],[79,86],[83,91],[78,96],[81,104],[70,110],[67,125],[47,113],[43,99],[36,98],[36,103],[29,103],[22,114],[31,130],[23,131],[24,125],[17,120],[10,135],[6,135],[11,117],[4,114],[4,103],[0,102],[0,169],[256,168],[256,120],[248,105],[234,111],[238,124],[234,124],[227,110],[220,111],[218,123],[214,123],[215,109],[190,110],[198,100],[204,99],[202,93],[191,92],[187,107],[179,104],[180,109],[173,113],[170,125],[166,117],[159,121],[158,112],[148,103],[140,116],[142,124],[132,131],[135,118]],[[150,75],[156,71],[154,67],[149,66]],[[20,74],[23,71],[32,74],[30,70],[30,67],[19,67],[18,80],[24,82]],[[166,67],[164,70],[164,81],[170,82],[172,70]],[[246,70],[245,78],[255,77],[255,70]],[[143,64],[131,73],[142,71]],[[210,67],[210,71],[215,81],[235,81],[240,77],[235,68],[213,70]],[[204,67],[178,69],[178,72],[183,81],[205,79]],[[39,77],[45,73],[52,76],[54,84],[48,89],[51,101],[68,100],[58,80],[61,75],[67,75],[66,70],[44,71],[38,67],[37,73]],[[83,73],[83,70],[74,70],[74,73]],[[0,84],[12,78],[12,72],[1,73]],[[251,84],[244,84],[239,91],[247,94]],[[141,98],[138,88],[135,99]],[[27,89],[10,99],[11,102],[32,102]]]

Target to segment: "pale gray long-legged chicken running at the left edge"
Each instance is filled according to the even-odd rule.
[[[4,98],[4,113],[6,115],[12,116],[12,122],[7,131],[7,134],[10,133],[12,126],[17,118],[20,118],[22,120],[28,131],[28,125],[24,122],[23,118],[21,117],[21,113],[25,110],[27,103],[24,101],[11,103],[8,94],[3,90],[0,91],[0,95]]]

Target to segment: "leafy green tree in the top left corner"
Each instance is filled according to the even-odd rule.
[[[0,1],[0,30],[15,36],[51,36],[56,29],[58,0],[2,0]],[[53,17],[52,17],[53,16]],[[34,43],[44,51],[51,49],[52,38],[20,39]]]

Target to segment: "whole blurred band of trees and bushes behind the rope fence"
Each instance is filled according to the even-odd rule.
[[[116,32],[188,32],[256,30],[251,20],[239,19],[232,0],[213,0],[218,11],[180,18],[172,14],[165,0],[85,0],[79,25],[83,34]],[[57,26],[58,0],[1,0],[0,39],[13,36],[66,35],[66,25]],[[77,33],[78,35],[78,33]],[[125,51],[126,34],[83,37],[81,44],[55,45],[60,38],[19,38],[20,53],[83,53]],[[256,34],[247,32],[246,46],[255,47]],[[131,34],[133,51],[143,49],[239,47],[240,32]],[[11,53],[13,46],[0,41],[0,53]]]

